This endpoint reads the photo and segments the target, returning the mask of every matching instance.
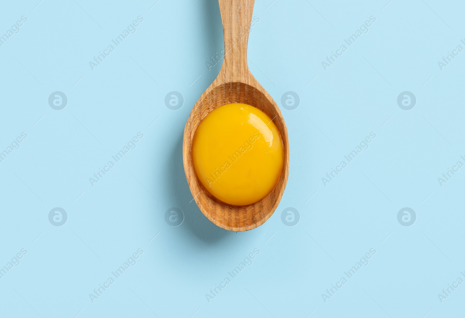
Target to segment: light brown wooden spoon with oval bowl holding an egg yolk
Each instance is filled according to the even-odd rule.
[[[286,123],[278,105],[255,80],[247,66],[247,42],[255,0],[219,0],[223,20],[225,58],[218,77],[195,103],[184,129],[182,157],[187,183],[200,211],[214,224],[231,231],[247,231],[262,225],[278,207],[289,172],[289,142]],[[205,116],[228,103],[259,108],[278,127],[283,140],[284,164],[278,183],[260,201],[245,206],[228,205],[211,195],[200,183],[192,163],[194,133]]]

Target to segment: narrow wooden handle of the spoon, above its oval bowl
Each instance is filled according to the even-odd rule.
[[[250,77],[247,41],[254,2],[255,0],[219,0],[225,36],[225,59],[219,76],[224,82],[246,81]]]

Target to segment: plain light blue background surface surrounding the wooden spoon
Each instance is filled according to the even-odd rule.
[[[256,1],[250,69],[279,106],[287,91],[300,105],[281,108],[291,152],[279,207],[236,233],[191,201],[181,157],[186,119],[219,72],[206,66],[224,47],[218,2],[155,1],[1,4],[0,35],[27,22],[0,46],[0,151],[27,138],[0,163],[0,266],[27,254],[0,279],[0,316],[463,317],[465,285],[438,299],[465,272],[465,168],[438,182],[465,163],[465,52],[438,66],[465,38],[463,2]],[[137,32],[92,70],[138,16]],[[325,71],[321,62],[370,16],[369,32]],[[48,105],[54,91],[68,98],[61,111]],[[184,97],[177,111],[165,106],[170,91]],[[397,105],[403,91],[417,98],[412,110]],[[137,148],[91,186],[138,132]],[[371,132],[369,148],[324,186]],[[65,225],[49,222],[54,207]],[[185,214],[178,227],[165,222],[170,207]],[[281,221],[287,207],[300,213],[293,227]],[[397,220],[403,207],[416,212],[412,226]],[[92,303],[138,248],[137,264]],[[209,303],[205,294],[255,248]]]

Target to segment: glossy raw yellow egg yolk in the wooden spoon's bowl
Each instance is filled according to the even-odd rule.
[[[219,106],[200,122],[192,161],[202,185],[229,205],[249,205],[272,191],[283,167],[278,128],[258,108]]]

